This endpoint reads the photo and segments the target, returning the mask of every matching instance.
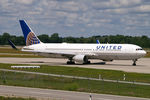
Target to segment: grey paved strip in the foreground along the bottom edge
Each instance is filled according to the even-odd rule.
[[[58,95],[59,94],[59,95]],[[89,100],[90,93],[0,85],[0,95],[34,97],[40,100]],[[92,93],[92,100],[150,100],[127,96]]]

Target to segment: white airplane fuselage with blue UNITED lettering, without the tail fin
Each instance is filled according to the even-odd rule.
[[[146,52],[133,44],[72,44],[41,43],[23,47],[22,51],[34,52],[47,57],[86,55],[88,59],[135,60]]]

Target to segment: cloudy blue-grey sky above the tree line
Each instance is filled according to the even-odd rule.
[[[150,37],[150,0],[0,0],[0,35],[23,36],[19,19],[37,35]]]

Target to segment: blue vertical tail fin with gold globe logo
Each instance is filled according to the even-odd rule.
[[[35,33],[31,30],[31,28],[27,25],[24,20],[19,20],[21,29],[25,38],[26,46],[39,44],[41,41],[35,35]]]

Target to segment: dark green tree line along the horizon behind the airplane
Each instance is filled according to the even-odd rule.
[[[150,48],[150,38],[147,36],[124,36],[124,35],[105,35],[91,37],[60,37],[58,33],[51,36],[47,34],[39,35],[38,38],[44,43],[96,43],[98,39],[100,43],[121,43],[121,44],[136,44],[143,48]],[[8,45],[10,39],[15,45],[25,45],[23,36],[10,35],[3,33],[0,35],[0,45]]]

